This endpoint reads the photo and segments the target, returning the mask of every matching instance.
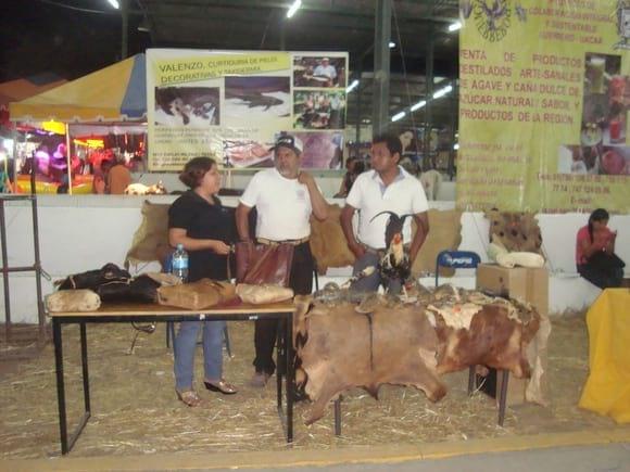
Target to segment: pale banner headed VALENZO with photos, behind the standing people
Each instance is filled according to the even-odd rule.
[[[304,167],[339,168],[346,71],[340,52],[148,50],[150,170],[178,171],[199,155],[269,167],[282,132],[303,141]]]

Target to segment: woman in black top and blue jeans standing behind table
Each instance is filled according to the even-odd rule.
[[[235,222],[216,196],[220,188],[218,167],[210,157],[194,157],[186,164],[179,180],[190,190],[168,209],[168,242],[174,247],[182,244],[188,252],[189,282],[202,278],[225,280]],[[174,343],[175,390],[190,407],[201,403],[192,378],[197,334],[202,326],[205,387],[224,395],[237,392],[222,375],[225,321],[184,321]]]

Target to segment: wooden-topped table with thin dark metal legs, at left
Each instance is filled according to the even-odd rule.
[[[86,323],[121,323],[121,322],[147,322],[147,321],[203,321],[203,320],[226,320],[238,321],[259,319],[286,320],[284,335],[278,333],[278,365],[281,356],[285,356],[286,373],[277,370],[277,403],[280,422],[285,428],[287,442],[293,441],[293,310],[292,302],[284,302],[269,305],[247,305],[230,304],[216,306],[201,311],[167,307],[156,304],[104,304],[96,311],[59,311],[49,312],[52,319],[52,337],[54,343],[54,362],[56,370],[56,397],[59,405],[59,429],[61,435],[61,452],[70,452],[76,439],[87,424],[90,413],[90,388],[88,371],[88,348],[86,336]],[[85,411],[79,424],[68,437],[65,411],[65,386],[63,380],[63,350],[62,350],[62,327],[63,324],[77,323],[80,329],[81,367],[84,383]],[[287,410],[282,408],[282,378],[287,397]]]

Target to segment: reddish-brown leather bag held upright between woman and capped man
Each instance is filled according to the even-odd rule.
[[[280,286],[289,286],[293,248],[294,246],[291,244],[237,243],[237,283],[252,285],[273,283]]]

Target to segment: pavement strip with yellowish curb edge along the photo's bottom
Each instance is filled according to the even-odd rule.
[[[630,426],[466,442],[0,460],[0,471],[630,472]]]

